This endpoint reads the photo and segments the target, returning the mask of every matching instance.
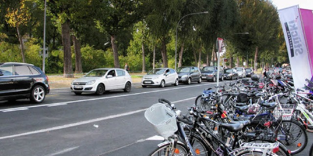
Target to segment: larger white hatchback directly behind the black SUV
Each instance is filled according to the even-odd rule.
[[[131,91],[132,78],[124,69],[120,68],[98,68],[89,71],[81,78],[75,79],[70,85],[70,91],[76,95],[82,92],[92,92],[98,95],[105,91],[123,89]]]

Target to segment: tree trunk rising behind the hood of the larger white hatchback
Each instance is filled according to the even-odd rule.
[[[72,36],[72,40],[75,52],[75,73],[83,73],[80,41],[74,35]]]

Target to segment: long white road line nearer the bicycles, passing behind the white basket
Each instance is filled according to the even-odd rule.
[[[193,97],[193,98],[195,98],[195,97]],[[190,100],[190,99],[191,98],[184,99],[184,100],[179,100],[179,101],[174,101],[172,103],[177,103],[177,102]],[[137,112],[141,112],[141,111],[146,111],[146,110],[147,109],[141,109],[141,110],[137,110],[137,111],[129,111],[129,112],[124,112],[124,113],[120,113],[120,114],[116,114],[116,115],[110,115],[110,116],[106,116],[106,117],[100,117],[100,118],[95,118],[95,119],[91,119],[91,120],[86,120],[86,121],[66,124],[66,125],[63,125],[63,126],[51,127],[51,128],[41,129],[41,130],[37,130],[37,131],[26,132],[26,133],[22,133],[22,134],[1,136],[0,139],[6,139],[6,138],[23,136],[23,135],[29,135],[29,134],[37,134],[37,133],[42,133],[42,132],[47,132],[47,131],[60,130],[60,129],[65,129],[65,128],[74,127],[74,126],[79,126],[79,125],[83,125],[83,124],[89,124],[89,123],[92,123],[92,122],[97,122],[97,121],[112,119],[112,118],[116,118],[116,117],[121,117],[121,116],[125,116],[125,115],[131,115],[131,114],[134,114],[134,113],[137,113]]]

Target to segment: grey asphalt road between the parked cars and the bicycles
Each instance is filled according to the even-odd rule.
[[[222,83],[225,83],[223,81]],[[144,117],[158,98],[187,112],[203,89],[216,83],[141,88],[104,95],[52,89],[45,101],[0,102],[0,156],[147,156],[161,142]],[[309,135],[311,146],[313,134]],[[295,156],[308,156],[307,148]]]

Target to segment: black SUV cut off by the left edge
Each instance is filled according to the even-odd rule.
[[[49,93],[48,77],[34,65],[0,63],[0,101],[29,98],[41,103]]]

